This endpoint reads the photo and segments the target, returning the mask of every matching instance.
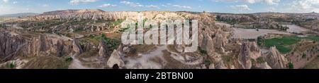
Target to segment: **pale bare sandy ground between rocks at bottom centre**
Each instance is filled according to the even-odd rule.
[[[199,57],[196,60],[189,61],[191,56],[182,56],[180,53],[169,51],[167,45],[157,46],[157,49],[147,53],[140,53],[138,57],[123,57],[125,68],[128,69],[162,69],[167,65],[167,58],[164,58],[164,51],[171,53],[171,58],[177,60],[184,65],[198,65],[203,62],[203,58]]]

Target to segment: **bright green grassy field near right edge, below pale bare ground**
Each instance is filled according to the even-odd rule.
[[[301,39],[310,39],[313,41],[319,41],[319,37],[316,36],[308,36],[308,37],[297,37],[297,36],[284,36],[277,37],[273,39],[262,39],[259,41],[259,45],[263,44],[263,46],[271,47],[276,46],[281,53],[289,53],[293,48],[293,44],[297,44]]]

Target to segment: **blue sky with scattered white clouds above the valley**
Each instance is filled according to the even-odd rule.
[[[319,13],[319,0],[0,0],[0,15],[67,9]]]

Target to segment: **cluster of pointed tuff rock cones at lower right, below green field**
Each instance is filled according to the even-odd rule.
[[[252,62],[252,60],[257,62]],[[271,47],[267,53],[262,53],[256,42],[244,42],[240,49],[238,62],[242,68],[250,69],[252,65],[255,68],[282,69],[286,68],[287,60],[285,56],[275,47]]]

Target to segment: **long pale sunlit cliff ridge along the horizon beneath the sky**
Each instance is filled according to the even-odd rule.
[[[52,11],[41,15],[30,16],[26,20],[50,20],[50,19],[66,19],[66,20],[118,20],[129,19],[136,20],[139,14],[147,19],[178,19],[183,18],[177,13],[169,11],[114,11],[106,12],[101,10],[67,10],[67,11]]]

